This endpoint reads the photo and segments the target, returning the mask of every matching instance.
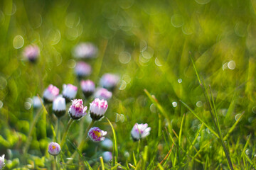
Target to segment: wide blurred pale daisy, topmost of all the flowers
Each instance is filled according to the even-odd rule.
[[[97,47],[90,42],[82,42],[78,44],[73,52],[77,58],[93,58],[97,54]]]

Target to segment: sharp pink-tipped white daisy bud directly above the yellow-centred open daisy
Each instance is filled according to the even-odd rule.
[[[106,113],[107,107],[107,101],[95,98],[95,100],[90,103],[90,117],[92,120],[100,120]]]

